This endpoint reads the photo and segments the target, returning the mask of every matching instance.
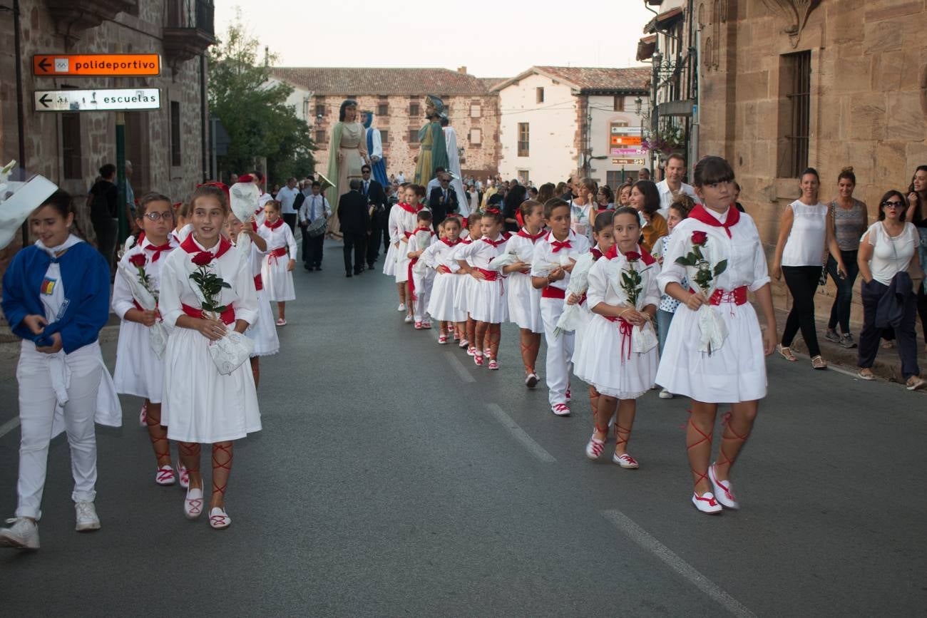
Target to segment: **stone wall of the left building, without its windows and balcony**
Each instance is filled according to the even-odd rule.
[[[116,114],[82,112],[81,173],[65,178],[61,153],[61,115],[33,111],[32,92],[59,88],[160,88],[162,107],[158,111],[126,113],[126,158],[133,161],[133,189],[140,197],[159,191],[176,200],[184,199],[207,172],[203,167],[201,139],[200,61],[198,57],[170,67],[161,42],[165,20],[163,0],[139,0],[137,15],[120,13],[95,28],[76,32],[80,38],[68,44],[57,33],[56,24],[41,0],[22,0],[21,64],[25,104],[25,167],[57,183],[77,196],[94,182],[97,169],[116,159]],[[13,19],[0,19],[0,159],[4,163],[19,158],[17,129],[16,57]],[[157,53],[161,55],[161,74],[153,78],[68,78],[33,77],[32,55],[44,53]],[[180,103],[181,165],[171,166],[171,105]],[[89,229],[89,222],[83,221]],[[92,234],[92,230],[89,230]],[[0,252],[0,271],[19,248],[14,243]]]

